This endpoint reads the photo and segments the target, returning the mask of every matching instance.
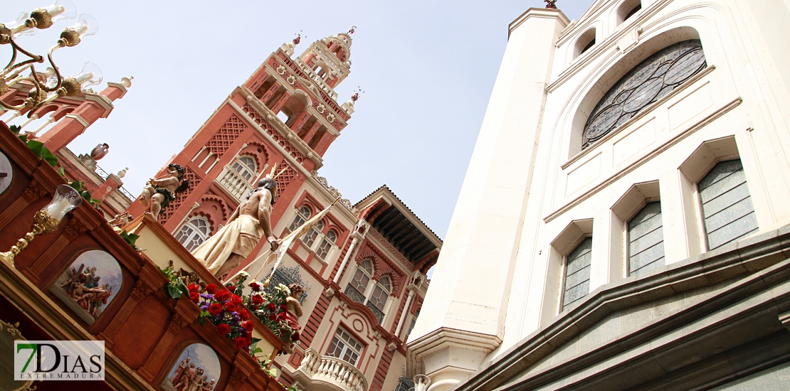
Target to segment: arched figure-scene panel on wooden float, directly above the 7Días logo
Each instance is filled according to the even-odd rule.
[[[98,319],[121,290],[123,274],[118,261],[102,250],[80,254],[50,291],[88,325]]]

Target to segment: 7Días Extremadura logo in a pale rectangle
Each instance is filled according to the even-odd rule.
[[[104,380],[103,340],[16,340],[14,380]]]

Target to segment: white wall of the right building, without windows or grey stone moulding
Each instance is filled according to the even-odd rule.
[[[423,359],[419,365],[440,378],[440,360],[431,362],[436,355],[426,350],[431,333],[450,328],[500,337],[485,366],[556,317],[564,256],[574,240],[593,238],[590,291],[625,278],[626,225],[612,208],[638,183],[657,181],[667,264],[705,251],[696,182],[718,160],[743,162],[760,232],[790,223],[787,2],[643,1],[617,24],[622,4],[596,2],[562,32],[561,17],[550,21],[542,10],[511,24],[409,344],[411,358]],[[578,39],[589,39],[590,28],[596,43],[577,55]],[[537,51],[546,39],[554,44]],[[686,39],[702,40],[707,69],[581,151],[584,124],[611,85]],[[549,75],[544,85],[536,74]]]

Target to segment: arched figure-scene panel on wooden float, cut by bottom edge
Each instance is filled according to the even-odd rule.
[[[162,389],[215,389],[220,382],[222,368],[214,349],[205,344],[190,344],[181,351],[162,381]],[[186,384],[186,387],[183,385]],[[178,385],[182,385],[176,388]],[[199,387],[198,387],[199,385]]]

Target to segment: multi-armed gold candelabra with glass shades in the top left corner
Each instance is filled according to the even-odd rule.
[[[55,62],[52,61],[52,53],[55,50],[61,47],[77,46],[85,36],[91,36],[98,31],[96,20],[88,14],[80,15],[77,24],[65,28],[60,33],[60,38],[55,46],[47,53],[51,70],[49,70],[50,74],[44,73],[44,76],[52,76],[51,81],[47,81],[46,78],[36,73],[35,64],[43,63],[44,57],[25,51],[15,40],[18,36],[32,35],[36,29],[50,28],[55,21],[73,19],[76,14],[77,9],[70,0],[58,0],[51,6],[34,9],[29,14],[21,13],[15,21],[0,24],[0,45],[10,44],[12,47],[11,61],[0,72],[0,95],[8,92],[11,85],[21,81],[28,81],[33,85],[23,103],[14,106],[0,100],[2,107],[17,111],[29,109],[28,118],[30,118],[38,109],[58,97],[77,95],[81,92],[82,84],[85,81],[92,81],[96,77],[95,73],[86,73],[85,69],[74,77],[62,77],[58,66],[55,66]],[[28,59],[17,62],[19,53],[27,56]],[[30,71],[29,76],[22,74],[25,70]]]

